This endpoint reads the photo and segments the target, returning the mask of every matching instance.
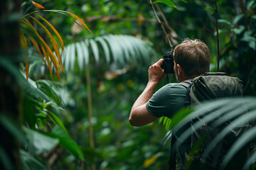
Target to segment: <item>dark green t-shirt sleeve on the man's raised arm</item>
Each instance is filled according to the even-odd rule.
[[[180,84],[167,84],[154,93],[146,103],[146,109],[157,118],[171,118],[176,111],[183,108],[185,96],[185,87]]]

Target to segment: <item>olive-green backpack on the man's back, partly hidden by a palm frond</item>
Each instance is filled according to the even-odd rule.
[[[180,84],[187,89],[184,103],[186,107],[216,98],[242,96],[242,81],[220,72],[206,73]],[[176,169],[176,154],[180,154],[182,169],[220,169],[225,154],[232,143],[251,127],[248,123],[231,130],[229,135],[219,140],[215,148],[208,152],[206,147],[212,142],[213,137],[218,135],[232,120],[223,123],[223,125],[218,125],[218,127],[214,126],[212,122],[203,122],[202,120],[201,117],[195,117],[191,120],[190,125],[187,125],[191,126],[192,132],[191,139],[189,139],[190,146],[186,149],[185,155],[181,155],[182,153],[178,147],[171,147],[169,169]],[[197,127],[200,125],[200,128],[196,128],[196,125]],[[171,144],[175,143],[175,135],[171,139]],[[242,169],[242,163],[249,157],[248,152],[250,152],[249,146],[242,148],[239,154],[233,158],[233,161],[226,166],[226,169]],[[238,162],[242,163],[238,164]]]

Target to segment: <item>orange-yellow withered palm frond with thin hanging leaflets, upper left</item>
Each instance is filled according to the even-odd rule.
[[[53,25],[50,24],[45,18],[37,15],[36,13],[38,13],[38,12],[61,13],[65,16],[69,16],[69,17],[73,18],[74,21],[75,21],[75,19],[80,21],[80,23],[82,23],[82,25],[80,25],[80,23],[77,23],[76,21],[75,21],[75,23],[77,23],[78,26],[80,26],[84,30],[89,30],[90,33],[92,33],[92,31],[86,26],[86,24],[78,16],[76,16],[73,13],[70,13],[68,11],[61,11],[61,10],[43,10],[43,6],[41,6],[40,4],[37,4],[37,3],[33,3],[33,4],[36,7],[41,8],[42,11],[33,11],[32,13],[28,13],[26,16],[23,16],[21,18],[21,29],[23,29],[23,31],[26,31],[26,35],[29,37],[29,39],[31,40],[33,45],[36,47],[36,51],[40,55],[44,64],[46,64],[46,62],[47,62],[46,67],[49,69],[52,79],[53,79],[53,73],[52,73],[52,68],[50,67],[51,64],[53,64],[53,67],[55,68],[55,72],[57,73],[58,78],[60,78],[60,72],[65,73],[65,70],[63,67],[63,61],[62,61],[62,58],[60,55],[60,54],[65,55],[63,40],[60,37],[60,34],[58,33],[58,31],[53,27]],[[53,54],[53,51],[50,49],[48,43],[46,43],[46,41],[43,40],[43,38],[41,38],[41,36],[38,34],[37,30],[32,26],[32,24],[28,20],[26,20],[27,16],[32,18],[33,21],[36,21],[36,23],[38,23],[38,25],[41,28],[43,28],[44,32],[46,33],[47,37],[49,38],[49,40],[51,42],[54,54]],[[46,23],[48,28],[46,28],[46,26],[43,26],[41,21],[39,21],[38,19],[36,19],[33,16],[37,16],[41,21],[43,21],[43,23]],[[26,42],[25,36],[23,35],[23,31],[21,30],[21,43],[22,43],[24,49],[27,51],[27,42]],[[51,32],[53,32],[54,35],[56,35],[58,41],[55,40],[55,38],[53,37],[53,34]],[[94,35],[94,34],[92,33],[92,35]],[[39,42],[39,45],[36,41]],[[61,52],[59,50],[58,44],[60,44]],[[92,42],[92,46],[95,47],[95,45],[93,45],[93,42]],[[40,47],[41,47],[41,49],[40,49]],[[97,48],[96,49],[93,48],[93,49],[97,50]],[[43,51],[43,55],[46,57],[46,62],[43,59],[41,50]],[[28,52],[26,52],[26,53],[28,53]],[[73,63],[74,60],[71,60],[71,62]],[[73,65],[74,65],[72,63],[70,64],[71,68],[73,68]],[[28,77],[28,55],[26,55],[26,77]]]

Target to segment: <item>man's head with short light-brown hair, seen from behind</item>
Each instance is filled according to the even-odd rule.
[[[201,40],[186,39],[174,48],[174,62],[176,73],[178,64],[182,67],[186,77],[198,76],[209,72],[210,51]]]

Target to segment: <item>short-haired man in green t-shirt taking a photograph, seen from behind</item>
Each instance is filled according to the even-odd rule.
[[[174,48],[173,57],[174,72],[178,83],[209,72],[210,52],[201,40],[183,40]],[[164,69],[161,69],[162,62],[163,59],[149,67],[149,81],[132,106],[129,116],[129,123],[133,126],[147,125],[161,116],[171,118],[184,106],[186,88],[181,84],[167,84],[154,93],[156,86],[164,77]],[[185,153],[186,148],[183,147],[181,150]],[[177,169],[179,169],[181,162],[179,158],[177,159]]]

